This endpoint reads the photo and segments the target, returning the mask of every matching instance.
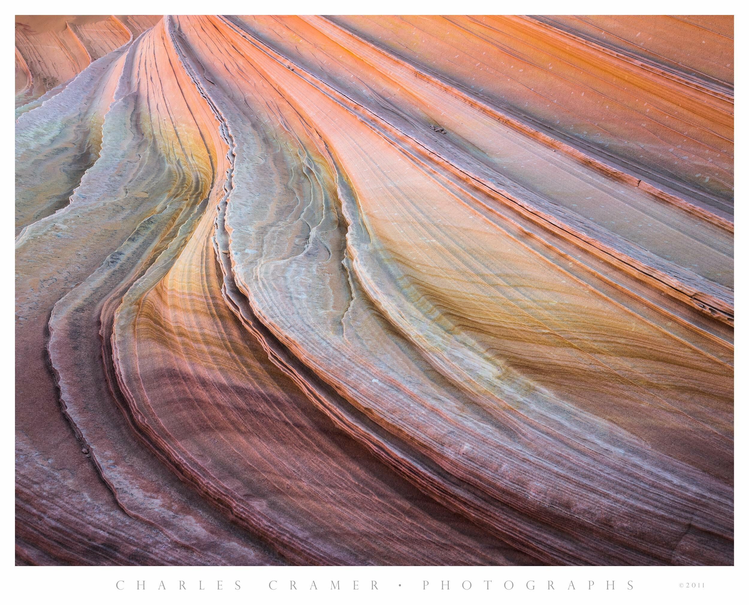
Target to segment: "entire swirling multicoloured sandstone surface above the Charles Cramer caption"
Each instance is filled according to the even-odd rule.
[[[733,563],[733,18],[16,20],[16,556]]]

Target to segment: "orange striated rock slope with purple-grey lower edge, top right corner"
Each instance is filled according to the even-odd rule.
[[[699,19],[344,16],[334,21],[583,153],[730,215],[733,17]]]

